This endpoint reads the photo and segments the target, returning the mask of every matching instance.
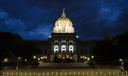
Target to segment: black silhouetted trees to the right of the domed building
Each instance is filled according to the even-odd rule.
[[[128,57],[128,33],[115,37],[109,36],[96,43],[93,48],[95,59],[99,64],[119,64],[122,58],[127,62]]]

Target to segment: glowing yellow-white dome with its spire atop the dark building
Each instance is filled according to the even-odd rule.
[[[72,21],[66,17],[65,11],[61,17],[55,22],[55,27],[53,28],[53,33],[74,33]]]

